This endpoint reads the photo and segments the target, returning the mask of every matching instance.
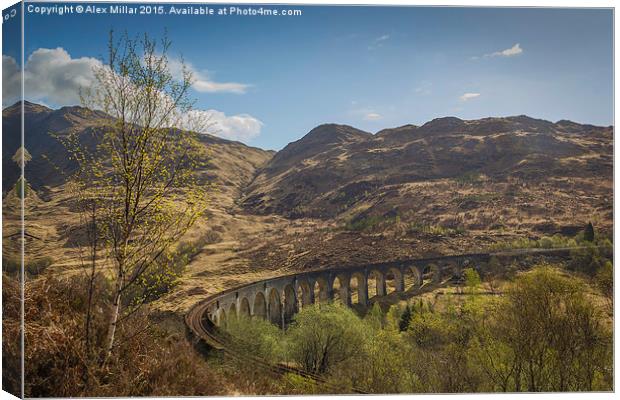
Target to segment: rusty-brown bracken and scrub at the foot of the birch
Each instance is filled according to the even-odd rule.
[[[101,364],[110,306],[106,280],[97,277],[98,302],[92,313],[92,335],[84,334],[87,281],[81,277],[26,281],[25,396],[111,397],[223,394],[221,379],[185,339],[151,326],[136,313],[118,328],[112,356]],[[3,276],[3,295],[19,298],[19,285]],[[4,308],[5,371],[19,371],[19,307]],[[3,375],[8,385],[14,380]]]

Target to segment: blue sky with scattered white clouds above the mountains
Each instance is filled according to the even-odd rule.
[[[142,16],[27,12],[26,99],[79,104],[110,29],[154,37],[166,29],[170,55],[194,72],[190,94],[212,113],[217,134],[265,149],[323,123],[373,133],[445,116],[613,124],[610,9],[293,5],[270,8],[301,16],[181,16],[164,8]],[[19,59],[5,39],[4,82]]]

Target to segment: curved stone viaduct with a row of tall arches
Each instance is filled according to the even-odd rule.
[[[335,298],[350,306],[368,305],[390,291],[415,291],[460,276],[464,266],[486,262],[489,254],[438,257],[332,268],[254,282],[224,291],[209,300],[206,316],[219,327],[231,318],[261,318],[286,326],[304,306]]]

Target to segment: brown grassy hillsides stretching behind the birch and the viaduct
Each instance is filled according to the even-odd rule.
[[[108,116],[26,104],[29,258],[50,273],[80,270],[66,177],[55,136],[96,142]],[[5,233],[17,229],[7,192],[17,167],[19,110],[3,111]],[[513,239],[572,236],[592,221],[610,231],[613,129],[525,116],[439,118],[371,134],[325,124],[277,152],[210,135],[212,202],[184,241],[199,251],[157,302],[184,312],[205,294],[291,271],[488,249]],[[11,240],[11,239],[9,239]],[[7,240],[7,243],[8,241]],[[17,242],[16,242],[17,244]],[[8,245],[5,247],[8,248]]]

